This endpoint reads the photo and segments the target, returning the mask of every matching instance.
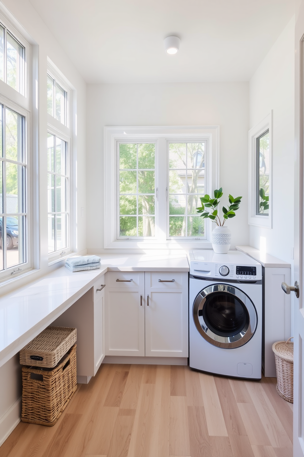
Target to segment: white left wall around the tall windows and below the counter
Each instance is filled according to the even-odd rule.
[[[58,67],[77,91],[77,237],[76,248],[86,252],[86,221],[80,218],[80,208],[86,204],[86,84],[67,55],[57,43],[55,37],[47,29],[45,23],[38,16],[28,0],[4,0],[3,4],[10,10],[16,21],[24,27],[30,37],[31,43],[39,46],[39,218],[34,220],[40,224],[40,240],[34,239],[39,271],[30,276],[30,280],[45,275],[58,266],[48,266],[47,252],[47,162],[46,162],[46,138],[47,138],[47,114],[46,114],[46,66],[47,57]],[[3,7],[0,4],[0,10]],[[7,12],[10,15],[9,12]],[[18,27],[18,24],[17,24]],[[35,176],[36,179],[36,176]],[[38,213],[38,212],[37,212]],[[28,282],[29,278],[19,279],[16,282],[1,287],[0,295],[9,292],[15,287]],[[0,444],[7,434],[20,420],[21,395],[21,366],[18,355],[0,368]]]

